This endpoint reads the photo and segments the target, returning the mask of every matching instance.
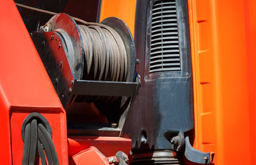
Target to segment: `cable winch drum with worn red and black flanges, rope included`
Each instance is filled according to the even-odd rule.
[[[131,32],[125,23],[115,17],[100,24],[85,22],[77,25],[65,13],[49,20],[50,31],[62,36],[68,63],[77,80],[134,82],[135,47]],[[124,104],[127,97],[77,96],[76,102]],[[121,101],[122,100],[122,101]],[[122,103],[120,103],[122,102]]]

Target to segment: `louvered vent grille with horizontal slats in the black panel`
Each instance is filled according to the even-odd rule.
[[[156,1],[152,9],[149,72],[179,71],[180,69],[175,0]]]

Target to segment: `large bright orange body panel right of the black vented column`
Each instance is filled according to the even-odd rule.
[[[256,1],[188,0],[194,147],[256,164]]]

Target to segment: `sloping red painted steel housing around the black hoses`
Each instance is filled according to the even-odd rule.
[[[60,164],[68,164],[66,116],[13,1],[0,1],[1,164],[21,164],[21,124],[37,111],[52,127]],[[12,144],[12,145],[11,145]]]

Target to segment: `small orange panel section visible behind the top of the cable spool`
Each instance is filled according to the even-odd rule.
[[[108,17],[120,18],[129,27],[134,36],[136,0],[102,0],[100,22]]]

